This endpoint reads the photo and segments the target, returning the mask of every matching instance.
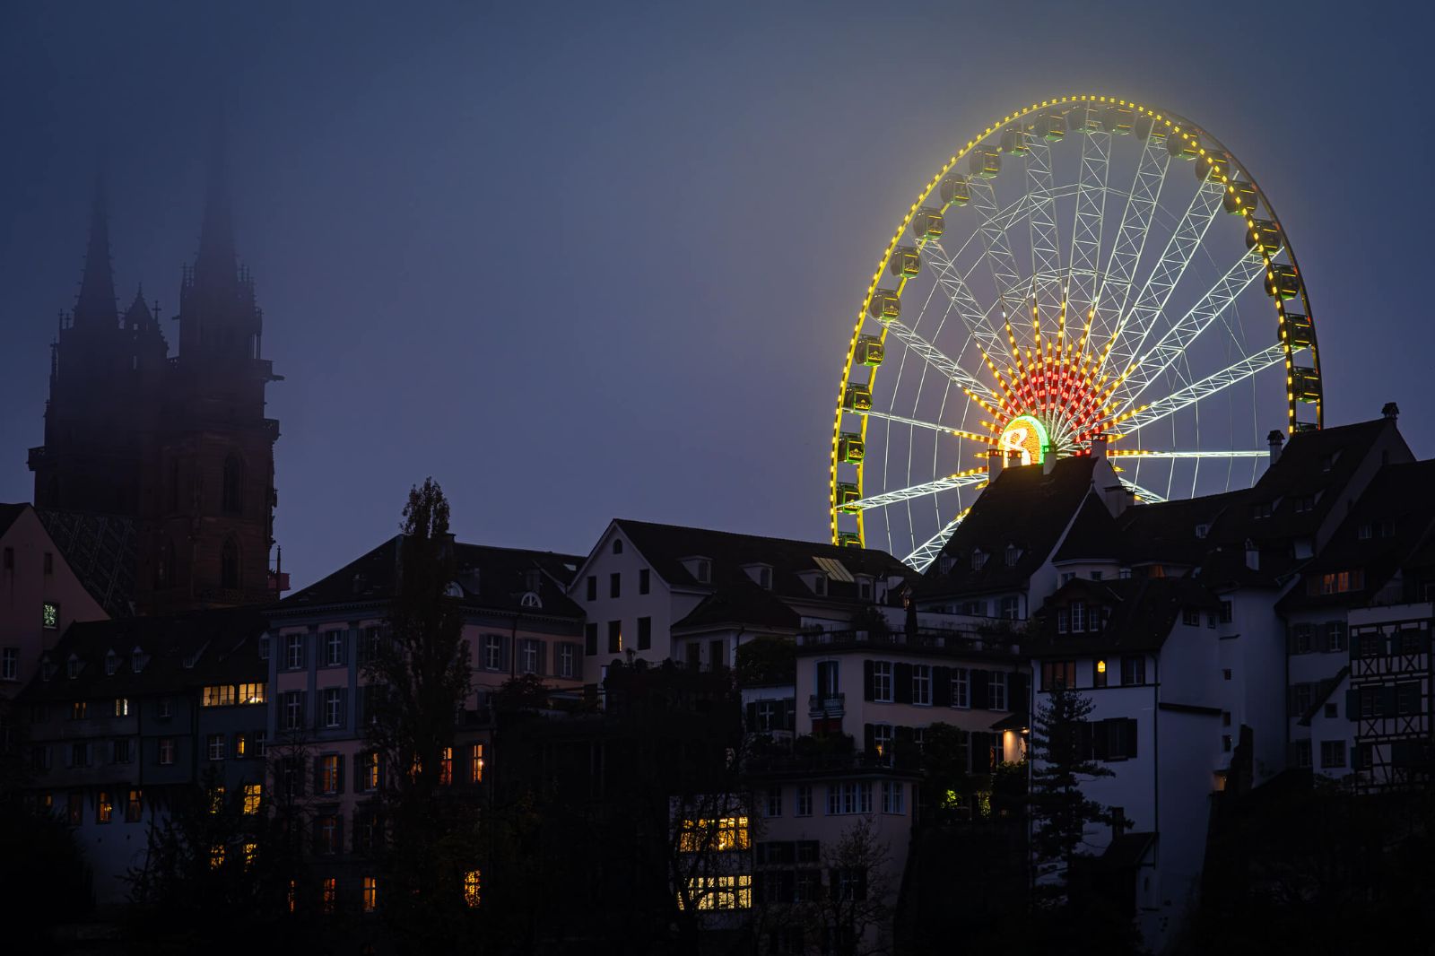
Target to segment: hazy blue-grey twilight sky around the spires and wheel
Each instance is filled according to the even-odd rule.
[[[96,167],[122,304],[175,314],[221,103],[296,586],[430,474],[476,543],[825,537],[878,254],[959,144],[1063,93],[1234,149],[1300,257],[1326,423],[1396,400],[1429,456],[1422,42],[1379,1],[0,0],[0,501],[32,498]]]

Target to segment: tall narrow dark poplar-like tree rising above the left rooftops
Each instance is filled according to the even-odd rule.
[[[380,802],[389,828],[382,909],[395,942],[428,952],[469,939],[474,914],[464,873],[476,868],[478,812],[442,785],[458,712],[469,693],[469,650],[449,505],[432,479],[409,491],[387,629],[364,676],[373,709],[370,745],[390,772]],[[451,765],[451,764],[449,764]]]

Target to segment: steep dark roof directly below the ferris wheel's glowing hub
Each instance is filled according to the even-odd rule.
[[[1091,492],[1093,468],[1089,456],[1063,458],[1049,475],[1042,465],[1003,468],[927,570],[921,596],[1025,587]],[[1012,564],[1006,561],[1009,545],[1017,556]],[[979,570],[973,570],[976,550],[987,556]],[[946,574],[944,557],[956,558]]]

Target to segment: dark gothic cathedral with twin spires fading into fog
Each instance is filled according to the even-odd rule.
[[[53,349],[44,445],[30,451],[36,504],[133,521],[139,613],[265,601],[274,442],[263,314],[240,267],[222,161],[194,266],[179,286],[179,349],[158,306],[115,301],[109,222],[96,189],[80,296]]]

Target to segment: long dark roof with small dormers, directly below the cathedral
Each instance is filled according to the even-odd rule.
[[[268,666],[258,655],[264,614],[254,607],[191,611],[172,617],[126,617],[70,624],[49,659],[49,680],[36,675],[23,692],[29,700],[96,700],[178,692],[210,683],[264,682]],[[144,652],[138,673],[133,650]],[[106,673],[113,652],[116,670]],[[69,676],[70,656],[83,665]],[[187,666],[188,665],[188,666]]]

